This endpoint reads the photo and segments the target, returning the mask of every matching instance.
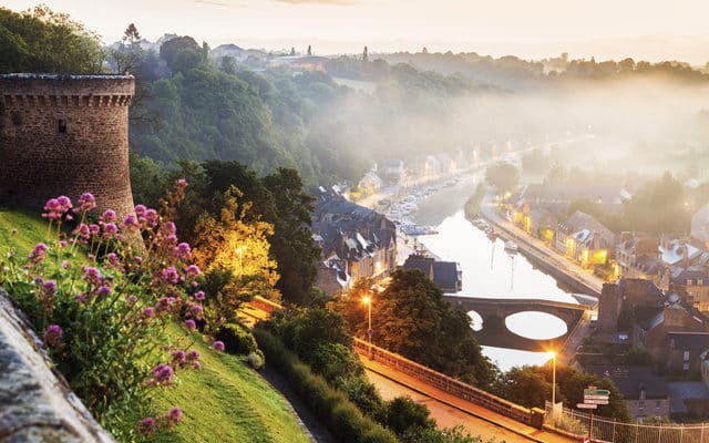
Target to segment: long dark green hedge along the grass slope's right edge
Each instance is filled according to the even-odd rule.
[[[353,405],[347,396],[314,374],[274,336],[256,329],[254,336],[269,362],[289,383],[332,434],[343,442],[395,442],[394,435],[374,423]]]

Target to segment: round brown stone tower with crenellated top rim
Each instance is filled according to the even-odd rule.
[[[0,204],[41,208],[83,194],[133,212],[130,75],[0,75]]]

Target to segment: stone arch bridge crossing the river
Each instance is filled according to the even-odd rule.
[[[559,349],[582,317],[597,308],[598,301],[593,297],[580,295],[574,297],[578,303],[536,298],[481,298],[453,295],[445,295],[443,299],[465,312],[475,311],[482,317],[483,329],[475,332],[480,344],[547,351]],[[566,323],[566,333],[549,340],[533,340],[510,331],[505,326],[505,319],[514,313],[526,311],[545,312],[559,318]]]

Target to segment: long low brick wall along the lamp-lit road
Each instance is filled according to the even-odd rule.
[[[370,357],[381,364],[411,375],[459,399],[463,399],[531,426],[541,429],[544,423],[544,411],[533,411],[521,406],[376,346],[371,346],[370,353],[370,344],[364,340],[356,338],[353,348],[354,351],[361,356]]]

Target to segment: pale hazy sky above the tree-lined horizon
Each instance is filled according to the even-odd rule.
[[[418,50],[709,61],[707,0],[43,0],[119,40],[130,22],[212,47]],[[35,1],[3,0],[23,10]]]

